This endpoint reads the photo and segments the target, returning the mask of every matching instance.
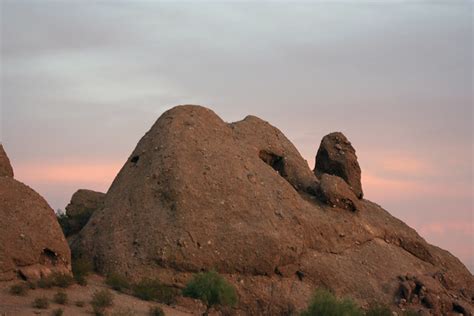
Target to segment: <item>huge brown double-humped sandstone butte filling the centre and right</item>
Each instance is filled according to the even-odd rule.
[[[300,310],[317,287],[363,306],[472,313],[473,276],[457,258],[359,199],[360,179],[320,171],[259,118],[227,124],[178,106],[140,140],[73,248],[103,273],[177,287],[216,269],[242,314]]]

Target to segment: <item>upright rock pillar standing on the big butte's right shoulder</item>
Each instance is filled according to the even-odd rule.
[[[327,173],[344,179],[358,198],[363,197],[355,149],[342,133],[324,136],[316,155],[314,171],[318,176]]]

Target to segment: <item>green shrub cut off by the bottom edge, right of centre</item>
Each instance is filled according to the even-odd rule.
[[[337,299],[326,290],[317,290],[301,316],[362,316],[361,309],[349,299]]]

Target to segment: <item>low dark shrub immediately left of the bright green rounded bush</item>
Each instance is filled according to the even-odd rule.
[[[145,301],[157,301],[163,304],[176,302],[177,291],[158,280],[144,279],[133,285],[133,295]]]

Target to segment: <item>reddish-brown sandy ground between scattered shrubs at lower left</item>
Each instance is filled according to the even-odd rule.
[[[29,290],[25,296],[14,296],[9,293],[10,286],[17,284],[18,281],[0,283],[0,316],[22,316],[22,315],[52,315],[58,308],[64,310],[64,316],[70,315],[93,315],[92,307],[89,304],[92,294],[104,288],[104,279],[97,275],[89,276],[87,286],[72,285],[64,289],[68,295],[67,305],[59,305],[52,302],[53,296],[60,290],[52,289],[34,289]],[[62,289],[61,289],[62,290]],[[133,296],[118,293],[111,290],[114,295],[114,304],[107,309],[106,315],[128,316],[128,315],[148,315],[151,306],[160,306],[166,315],[185,316],[192,315],[186,312],[184,308],[170,307],[158,303],[146,302]],[[37,297],[46,297],[50,300],[48,309],[37,309],[32,307],[32,302]],[[83,301],[84,307],[75,305],[77,301]]]

